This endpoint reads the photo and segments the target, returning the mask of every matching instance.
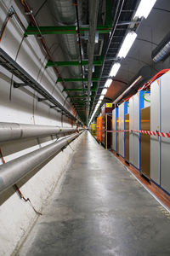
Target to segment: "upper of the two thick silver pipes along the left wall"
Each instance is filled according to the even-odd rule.
[[[0,122],[0,143],[30,137],[44,137],[50,135],[76,132],[77,128],[64,128],[49,125],[25,125]]]

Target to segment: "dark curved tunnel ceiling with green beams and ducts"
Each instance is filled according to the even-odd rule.
[[[64,85],[84,124],[94,112],[127,32],[135,31],[138,37],[121,60],[121,68],[112,78],[103,102],[115,100],[142,67],[150,67],[150,77],[169,67],[169,59],[156,64],[151,58],[152,50],[169,32],[169,0],[157,0],[148,18],[136,23],[132,18],[138,0],[28,0],[27,3],[53,56],[53,60],[47,61],[47,68],[59,70],[56,82]],[[37,27],[28,26],[26,35],[38,37]]]

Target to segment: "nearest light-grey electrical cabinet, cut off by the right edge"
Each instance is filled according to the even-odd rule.
[[[170,73],[150,86],[150,130],[170,132]],[[150,177],[170,193],[170,139],[150,136]]]

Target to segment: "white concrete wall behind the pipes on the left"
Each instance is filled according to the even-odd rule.
[[[0,2],[0,27],[7,16],[8,9],[13,5],[20,20],[27,27],[28,22],[20,1]],[[24,30],[14,18],[8,20],[3,33],[0,47],[17,61],[27,73],[50,91],[56,99],[71,113],[74,109],[68,101],[66,94],[62,93],[62,84],[56,84],[57,76],[52,67],[45,69],[48,61],[39,39],[34,36],[23,38]],[[51,39],[52,40],[52,39]],[[53,42],[48,42],[53,44]],[[57,55],[61,55],[59,50]],[[37,102],[38,93],[27,87],[14,89],[13,83],[20,82],[11,73],[0,66],[0,122],[17,122],[31,125],[57,125],[71,127],[71,120],[61,117],[55,109],[50,109],[47,102]],[[53,143],[56,137],[42,137],[37,139],[25,139],[12,143],[3,143],[0,148],[6,162],[14,160],[23,154],[27,154],[37,148]],[[71,143],[72,148],[77,148],[81,138]],[[25,197],[29,197],[32,205],[41,212],[44,201],[48,198],[60,177],[65,173],[65,167],[73,155],[72,149],[67,147],[63,152],[48,160],[42,166],[31,172],[18,183]],[[0,157],[0,164],[3,161]],[[20,200],[14,189],[8,189],[0,195],[0,255],[10,255],[20,243],[20,239],[26,235],[33,222],[37,219],[37,213],[33,211],[29,202]]]

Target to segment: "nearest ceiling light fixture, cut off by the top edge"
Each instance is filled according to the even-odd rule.
[[[134,15],[134,18],[144,17],[145,19],[147,19],[155,3],[156,3],[156,0],[141,0],[139,3],[139,7]]]

